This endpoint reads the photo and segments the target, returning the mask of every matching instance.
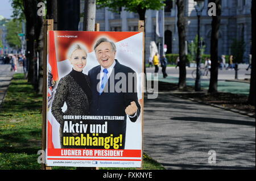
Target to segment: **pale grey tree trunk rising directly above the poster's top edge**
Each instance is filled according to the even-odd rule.
[[[95,31],[96,0],[84,2],[84,31]]]

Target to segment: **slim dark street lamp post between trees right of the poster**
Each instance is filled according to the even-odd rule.
[[[200,64],[201,64],[201,53],[200,53],[200,17],[204,9],[204,0],[194,0],[194,5],[197,14],[197,54],[196,54],[196,82],[195,91],[201,91],[201,78],[200,78]]]

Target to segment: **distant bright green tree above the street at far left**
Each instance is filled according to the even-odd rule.
[[[18,20],[10,20],[6,25],[6,40],[10,47],[21,48],[19,33],[22,33],[22,24]]]

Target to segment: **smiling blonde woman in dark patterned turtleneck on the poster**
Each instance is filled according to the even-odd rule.
[[[64,115],[88,115],[90,98],[92,92],[90,89],[89,78],[82,73],[86,65],[87,53],[80,45],[69,54],[69,61],[73,66],[72,71],[61,78],[56,89],[55,97],[52,102],[52,115],[60,123],[60,143],[61,148],[74,148],[66,145],[63,137],[77,136],[77,133],[63,133]],[[63,112],[61,107],[67,104],[67,110]],[[72,120],[73,124],[80,123],[81,120]],[[75,146],[75,148],[78,148]]]

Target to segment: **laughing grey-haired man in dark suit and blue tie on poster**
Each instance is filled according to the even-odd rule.
[[[88,73],[92,88],[90,115],[123,116],[124,120],[108,121],[108,133],[113,134],[113,137],[122,134],[122,146],[119,149],[124,149],[127,115],[132,122],[135,122],[141,112],[136,73],[115,59],[116,47],[113,41],[102,37],[94,45],[94,52],[100,65],[92,68]],[[120,80],[113,78],[118,73],[125,75],[125,79],[121,80],[123,81],[121,85],[124,86],[121,87],[121,92],[115,89],[115,85]],[[133,74],[132,81],[129,79],[129,74]],[[129,86],[133,86],[132,89]]]

